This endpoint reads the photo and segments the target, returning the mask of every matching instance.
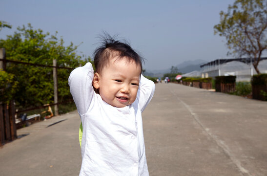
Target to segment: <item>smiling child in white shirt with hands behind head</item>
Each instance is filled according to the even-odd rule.
[[[74,69],[70,91],[82,120],[80,176],[148,176],[141,112],[155,84],[142,72],[142,58],[107,36],[91,63]]]

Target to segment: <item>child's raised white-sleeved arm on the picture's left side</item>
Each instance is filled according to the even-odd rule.
[[[75,68],[69,76],[70,92],[81,116],[88,110],[94,94],[93,77],[94,70],[91,63]]]

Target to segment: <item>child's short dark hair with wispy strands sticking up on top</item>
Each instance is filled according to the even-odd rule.
[[[135,62],[137,66],[140,65],[142,72],[142,62],[144,59],[131,48],[128,42],[120,42],[119,40],[116,40],[116,37],[117,36],[111,37],[107,33],[100,36],[102,39],[101,46],[94,51],[95,71],[100,73],[103,68],[107,66],[110,59],[118,56],[118,59],[125,57],[127,62]]]

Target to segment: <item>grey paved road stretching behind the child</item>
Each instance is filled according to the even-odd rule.
[[[79,124],[73,111],[18,130],[0,175],[78,175]],[[143,125],[150,176],[267,176],[267,102],[162,83]]]

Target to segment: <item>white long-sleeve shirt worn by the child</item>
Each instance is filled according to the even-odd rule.
[[[80,176],[148,176],[141,112],[152,99],[155,84],[141,75],[134,103],[116,108],[95,93],[93,75],[87,63],[69,76],[83,128]]]

